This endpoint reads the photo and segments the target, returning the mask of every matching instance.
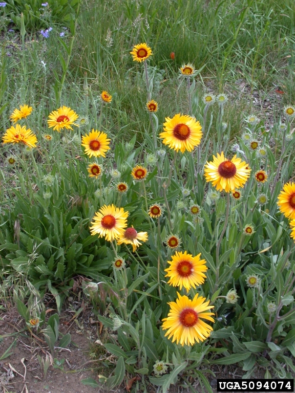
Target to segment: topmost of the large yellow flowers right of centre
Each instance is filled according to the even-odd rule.
[[[172,119],[165,118],[164,132],[160,134],[163,143],[170,148],[184,153],[192,151],[199,145],[202,138],[202,127],[195,118],[188,115],[175,115]]]

